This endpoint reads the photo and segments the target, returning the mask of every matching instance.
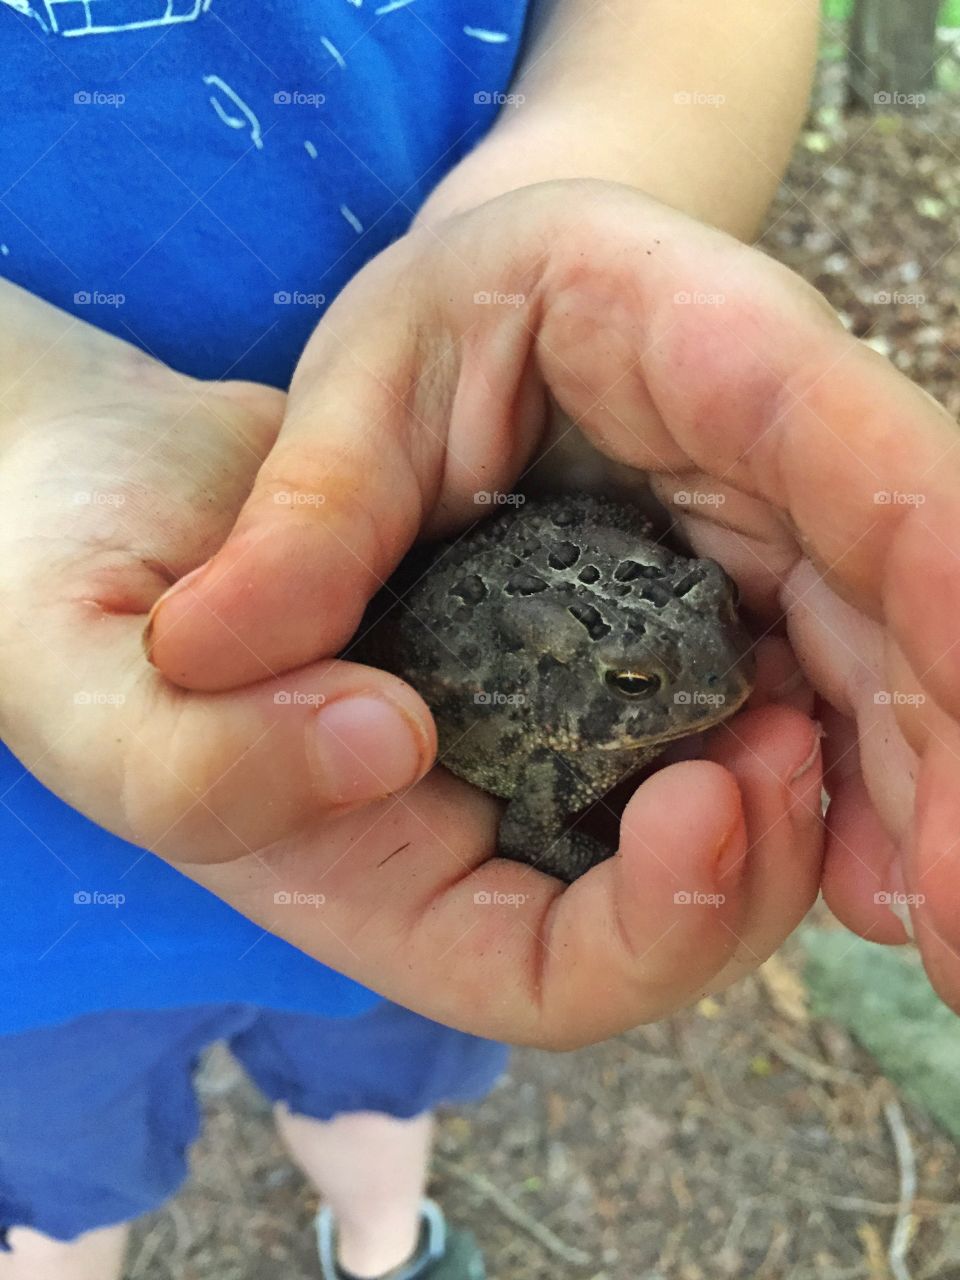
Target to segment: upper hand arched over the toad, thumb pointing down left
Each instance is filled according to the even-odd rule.
[[[157,667],[187,687],[227,689],[335,653],[419,531],[462,526],[477,515],[479,490],[515,485],[544,443],[548,397],[611,458],[659,476],[696,549],[724,561],[762,617],[772,623],[786,609],[828,728],[828,897],[864,934],[900,941],[890,900],[911,896],[933,980],[960,1001],[956,425],[783,268],[634,191],[570,182],[513,192],[412,233],[364,270],[308,346],[225,547],[156,611]],[[278,492],[296,502],[278,506]],[[758,714],[760,726],[735,721],[727,741],[769,781],[767,768],[780,777],[787,756],[804,758],[812,731],[796,713]],[[700,776],[671,812],[681,769]],[[426,804],[449,786],[416,795]],[[657,833],[672,867],[685,838],[705,859],[737,812],[730,786],[704,764],[662,773],[634,801],[644,837]],[[774,840],[786,829],[786,808],[771,799],[760,817],[744,799],[748,901],[728,923],[753,937],[744,920],[763,918],[769,937],[742,948],[762,952],[809,899],[817,841],[791,837],[764,863],[759,850],[771,826]],[[675,923],[652,895],[655,864],[641,852],[636,812],[623,828],[626,860],[594,872],[550,915],[547,975],[563,966],[567,992],[586,982],[568,1025],[609,1029],[644,1005],[631,1006],[635,961],[623,972],[611,952],[566,968],[577,947],[600,945],[607,922],[618,920],[621,955],[652,948],[658,982],[680,954],[690,964],[710,948],[704,941],[664,963],[686,937],[682,920],[659,945],[653,923],[640,927],[644,911],[664,929]],[[389,883],[419,893],[429,881],[439,893],[438,846],[404,814],[394,810],[397,845],[412,845],[387,864],[403,868]],[[470,861],[483,852],[457,847]],[[440,860],[456,877],[457,860]],[[788,909],[754,896],[764,876],[772,897],[794,895]],[[516,887],[499,864],[484,879],[494,877]],[[525,884],[538,904],[548,892]],[[371,910],[378,900],[371,891]],[[424,928],[451,964],[479,952],[477,977],[489,982],[489,915],[485,927],[457,914],[458,941],[448,904],[436,899]],[[539,932],[538,910],[521,919]],[[521,931],[507,933],[516,941]],[[410,934],[396,941],[402,963]]]

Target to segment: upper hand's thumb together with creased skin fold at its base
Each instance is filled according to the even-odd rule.
[[[424,525],[511,488],[543,421],[532,330],[479,323],[466,280],[442,314],[444,270],[399,241],[324,317],[233,531],[154,607],[145,644],[169,680],[229,689],[338,653]]]

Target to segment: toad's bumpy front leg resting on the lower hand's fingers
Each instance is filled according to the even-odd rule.
[[[568,829],[568,820],[628,772],[630,763],[617,753],[571,759],[536,748],[500,819],[499,855],[567,883],[585,874],[616,849],[585,831]]]

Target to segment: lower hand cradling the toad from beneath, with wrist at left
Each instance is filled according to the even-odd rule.
[[[32,306],[44,321],[35,349],[55,346],[63,376],[24,398],[0,451],[0,728],[54,791],[319,959],[506,1039],[576,1044],[663,1016],[792,928],[820,846],[815,732],[796,710],[742,716],[712,760],[640,787],[623,858],[564,892],[488,861],[497,805],[442,769],[388,797],[433,755],[426,708],[393,677],[320,660],[230,692],[164,680],[141,649],[146,613],[224,541],[283,397],[178,378]],[[370,485],[389,509],[385,480]],[[302,627],[298,582],[320,593],[314,626],[332,630],[333,613],[355,616],[367,580],[344,550],[337,576],[317,582],[316,509],[288,500],[308,490],[278,481],[274,493],[307,545],[291,541],[305,558],[278,568],[294,590],[270,596],[271,634],[288,614]],[[375,536],[362,495],[330,494],[332,538]],[[250,564],[260,572],[256,543]],[[193,608],[206,605],[197,596]],[[179,611],[179,626],[189,617]],[[169,645],[178,623],[163,627]],[[782,678],[773,657],[767,684]],[[384,703],[401,709],[393,728],[376,718]]]

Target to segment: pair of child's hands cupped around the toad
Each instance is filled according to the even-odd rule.
[[[904,941],[883,896],[909,897],[960,1001],[956,426],[800,279],[563,182],[370,262],[289,397],[4,306],[58,376],[26,360],[3,393],[0,728],[70,804],[390,998],[513,1042],[589,1042],[727,984],[820,882],[877,941]],[[568,888],[489,860],[497,805],[429,772],[419,696],[330,658],[415,538],[538,453],[568,465],[554,403],[611,475],[652,472],[790,639],[760,641],[750,708],[643,783],[621,856]]]

